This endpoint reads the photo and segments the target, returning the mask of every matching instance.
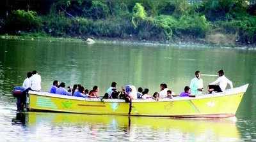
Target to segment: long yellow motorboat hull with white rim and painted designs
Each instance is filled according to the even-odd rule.
[[[134,99],[131,104],[122,99],[83,98],[29,91],[28,110],[95,115],[225,118],[236,115],[247,88],[248,84],[215,94],[163,98],[159,101]]]

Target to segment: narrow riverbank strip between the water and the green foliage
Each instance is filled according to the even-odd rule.
[[[200,40],[182,40],[179,39],[177,41],[147,41],[147,40],[136,40],[136,39],[119,39],[119,38],[93,38],[96,44],[113,44],[113,45],[141,45],[141,46],[175,46],[179,48],[236,48],[239,50],[256,50],[256,45],[214,45],[211,43],[207,43],[204,39]],[[60,37],[52,37],[52,36],[31,36],[31,35],[22,35],[22,36],[15,36],[15,35],[0,35],[0,39],[10,39],[10,40],[21,40],[21,41],[48,41],[49,43],[54,43],[57,41],[65,41],[65,42],[75,42],[75,43],[84,43],[88,44],[86,39],[81,37],[73,37],[73,38],[60,38]]]

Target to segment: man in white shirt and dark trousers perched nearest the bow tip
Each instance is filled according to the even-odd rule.
[[[208,91],[210,94],[212,93],[212,91],[223,92],[226,89],[227,84],[230,85],[231,89],[233,88],[233,83],[228,80],[228,78],[226,78],[223,69],[218,71],[218,74],[220,77],[215,82],[209,83],[208,85]]]

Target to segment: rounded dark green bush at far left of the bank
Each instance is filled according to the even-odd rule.
[[[35,11],[15,10],[6,19],[6,28],[9,31],[38,30],[42,26],[42,20]]]

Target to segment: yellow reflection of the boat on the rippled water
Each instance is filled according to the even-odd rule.
[[[235,117],[172,119],[39,112],[17,113],[13,118],[14,124],[26,125],[30,133],[40,132],[42,138],[76,137],[76,140],[89,138],[92,141],[236,141],[241,136],[235,121]]]

